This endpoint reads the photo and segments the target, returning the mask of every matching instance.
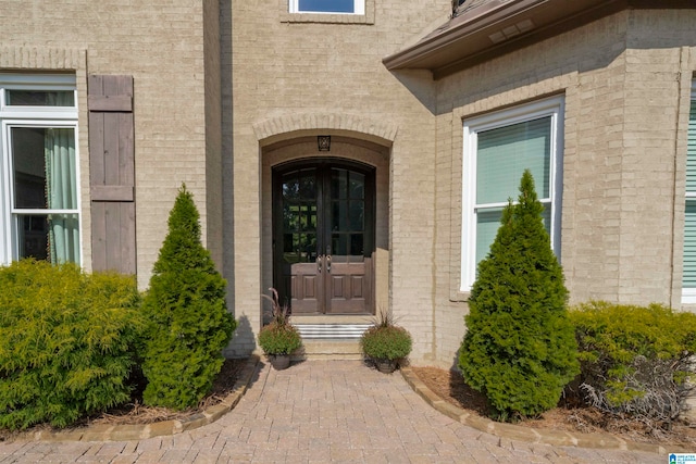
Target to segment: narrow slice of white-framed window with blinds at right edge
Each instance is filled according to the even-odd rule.
[[[691,111],[688,113],[685,197],[682,302],[696,303],[696,81],[692,83]]]

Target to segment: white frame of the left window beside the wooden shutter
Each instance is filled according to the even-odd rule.
[[[74,106],[8,105],[5,90],[71,90]],[[79,258],[83,250],[82,202],[79,195],[79,135],[77,130],[77,90],[74,75],[23,75],[0,73],[0,265],[18,258],[18,220],[25,214],[76,214],[79,223]],[[11,128],[72,128],[75,136],[75,181],[77,205],[71,210],[15,209]],[[82,263],[76,263],[80,265]]]

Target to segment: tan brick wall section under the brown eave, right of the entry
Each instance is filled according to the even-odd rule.
[[[571,303],[680,306],[695,20],[626,11],[437,81],[436,177],[449,183],[437,183],[436,237],[451,256],[435,277],[440,363],[451,364],[465,331],[462,120],[545,96],[564,95],[561,264]]]

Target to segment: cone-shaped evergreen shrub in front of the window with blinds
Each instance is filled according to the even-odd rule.
[[[469,299],[459,367],[502,421],[555,407],[580,372],[563,274],[525,171]]]

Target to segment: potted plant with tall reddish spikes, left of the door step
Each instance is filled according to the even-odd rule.
[[[290,365],[290,354],[302,346],[302,338],[290,324],[287,304],[281,305],[278,292],[270,288],[273,297],[263,297],[271,301],[271,322],[259,331],[259,346],[271,365],[282,371]]]

